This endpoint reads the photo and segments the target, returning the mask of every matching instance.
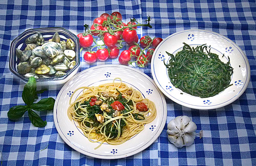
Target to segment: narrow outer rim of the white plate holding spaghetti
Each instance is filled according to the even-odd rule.
[[[127,68],[127,69],[130,69],[130,70],[133,70],[133,71],[136,71],[140,74],[142,74],[144,77],[146,77],[149,81],[151,81],[153,83],[153,85],[156,87],[156,89],[158,90],[161,98],[162,98],[162,102],[163,102],[163,120],[161,122],[161,125],[159,127],[159,130],[156,132],[156,134],[152,137],[151,140],[149,140],[147,143],[145,143],[144,146],[142,147],[139,147],[138,149],[132,151],[132,152],[129,152],[128,154],[122,154],[122,155],[113,155],[113,156],[104,156],[104,155],[97,155],[97,154],[92,154],[92,153],[89,153],[89,152],[86,152],[86,151],[83,151],[81,150],[80,148],[74,146],[70,141],[69,139],[67,139],[65,137],[65,135],[62,133],[59,125],[58,124],[58,120],[57,120],[57,104],[55,102],[54,104],[54,109],[53,109],[53,115],[54,115],[54,124],[55,124],[55,127],[57,129],[57,132],[58,134],[60,135],[60,137],[62,138],[62,140],[68,144],[72,149],[82,153],[82,154],[85,154],[87,156],[90,156],[90,157],[95,157],[95,158],[98,158],[98,159],[120,159],[120,158],[124,158],[124,157],[128,157],[128,156],[131,156],[131,155],[134,155],[134,154],[137,154],[141,151],[143,151],[144,149],[146,149],[147,147],[149,147],[151,144],[153,144],[155,142],[155,140],[159,137],[159,135],[161,134],[163,128],[165,127],[165,124],[166,124],[166,119],[167,119],[167,104],[166,104],[166,99],[164,97],[164,95],[162,94],[161,90],[159,90],[158,86],[156,85],[156,83],[153,81],[153,79],[151,79],[149,76],[147,76],[145,73],[141,72],[140,70],[138,69],[135,69],[135,68],[132,68],[132,67],[128,67],[128,66],[123,66],[123,65],[114,65],[114,64],[109,64],[109,65],[99,65],[99,66],[94,66],[94,67],[91,67],[91,68],[88,68],[86,70],[83,70],[77,74],[75,74],[75,76],[73,76],[68,82],[66,82],[62,88],[60,89],[59,93],[58,93],[58,96],[56,97],[56,101],[59,100],[60,96],[61,96],[61,93],[65,90],[65,88],[67,87],[67,85],[76,77],[80,76],[81,74],[85,73],[85,72],[88,72],[90,70],[95,70],[97,68],[102,68],[102,67],[121,67],[121,68]]]

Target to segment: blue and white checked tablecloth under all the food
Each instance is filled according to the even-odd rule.
[[[233,40],[247,55],[251,81],[245,93],[232,104],[199,111],[167,100],[167,122],[179,115],[192,117],[202,139],[189,147],[176,148],[167,139],[167,125],[158,139],[144,151],[118,160],[94,159],[70,148],[57,133],[53,112],[40,112],[45,128],[34,127],[26,113],[14,122],[7,118],[10,107],[23,104],[24,83],[9,70],[11,41],[26,29],[64,27],[75,34],[102,13],[119,11],[123,20],[152,17],[152,29],[138,34],[165,38],[186,29],[206,29]],[[141,19],[142,18],[142,19]],[[1,0],[0,1],[0,151],[1,165],[256,165],[256,3],[255,0]],[[139,36],[140,37],[140,36]],[[125,49],[125,48],[124,48]],[[81,54],[82,55],[82,54]],[[88,65],[82,59],[81,70]],[[150,65],[144,71],[151,76]],[[42,87],[38,87],[41,89]],[[48,86],[39,98],[56,98],[61,85]],[[45,149],[46,148],[46,149]],[[43,150],[45,149],[45,150]]]

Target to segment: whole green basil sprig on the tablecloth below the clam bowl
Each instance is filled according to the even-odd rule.
[[[43,93],[45,90],[37,91],[37,85],[34,77],[28,79],[28,83],[24,86],[22,92],[22,99],[27,105],[16,105],[10,108],[7,115],[11,120],[18,120],[26,111],[28,111],[28,117],[35,127],[45,127],[46,121],[43,121],[35,111],[50,111],[54,107],[54,98],[45,98],[37,103],[34,103],[38,99],[38,94]]]

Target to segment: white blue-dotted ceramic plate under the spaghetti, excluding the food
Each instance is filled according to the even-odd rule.
[[[144,126],[144,130],[127,142],[121,145],[104,143],[94,150],[99,143],[89,142],[82,131],[76,127],[76,122],[70,121],[67,116],[69,99],[74,90],[79,87],[111,83],[116,77],[121,78],[128,86],[139,90],[145,98],[153,101],[156,104],[157,116],[154,121]],[[82,89],[76,92],[72,101],[81,92]],[[119,159],[141,152],[160,135],[165,126],[166,117],[166,101],[155,82],[139,70],[123,65],[101,65],[76,74],[61,88],[54,104],[54,123],[61,138],[76,151],[100,159]]]

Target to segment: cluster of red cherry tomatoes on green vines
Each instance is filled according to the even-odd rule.
[[[162,39],[159,37],[151,39],[149,36],[143,36],[139,41],[136,31],[137,26],[152,28],[149,24],[150,17],[146,20],[148,21],[147,24],[140,24],[134,18],[126,24],[122,22],[122,19],[123,17],[119,12],[113,12],[111,15],[103,13],[93,20],[90,27],[87,24],[84,25],[85,32],[77,35],[81,47],[88,48],[93,43],[96,45],[84,53],[85,62],[94,63],[97,59],[105,61],[108,58],[118,57],[119,49],[123,48],[123,42],[126,42],[130,47],[120,53],[118,59],[120,64],[128,65],[136,62],[139,67],[144,67],[151,61],[153,52]],[[99,40],[103,44],[99,44]],[[153,48],[150,48],[151,46]],[[93,51],[95,47],[97,51],[95,49]],[[132,59],[136,60],[132,61]]]

